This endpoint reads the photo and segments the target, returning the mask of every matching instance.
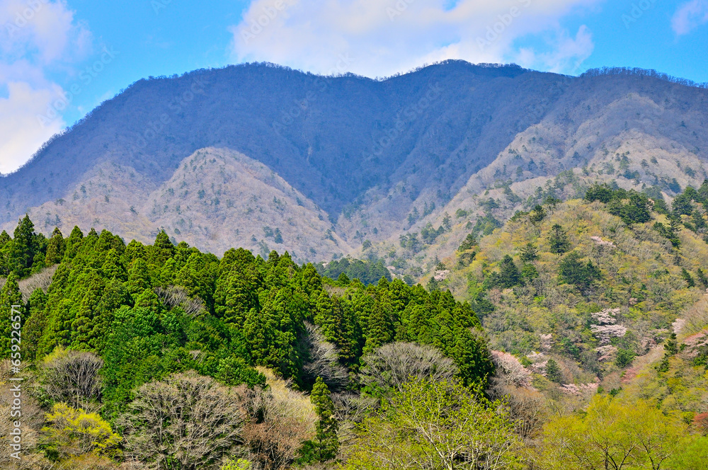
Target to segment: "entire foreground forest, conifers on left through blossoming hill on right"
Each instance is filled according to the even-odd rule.
[[[547,198],[426,288],[24,217],[0,235],[1,465],[708,469],[707,208],[708,182]]]

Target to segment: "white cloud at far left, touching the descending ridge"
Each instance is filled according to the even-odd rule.
[[[16,170],[64,126],[61,116],[41,123],[62,87],[53,72],[91,52],[91,32],[63,0],[0,0],[0,173]]]

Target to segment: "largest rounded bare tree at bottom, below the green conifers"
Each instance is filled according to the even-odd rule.
[[[195,373],[144,384],[118,424],[126,457],[146,469],[218,469],[239,452],[244,416],[236,390]]]

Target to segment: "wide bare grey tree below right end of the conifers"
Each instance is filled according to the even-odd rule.
[[[449,357],[433,348],[415,343],[390,343],[362,358],[360,381],[366,386],[393,387],[397,391],[413,378],[431,382],[451,379],[457,366]]]

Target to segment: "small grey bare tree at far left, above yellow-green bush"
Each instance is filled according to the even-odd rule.
[[[42,387],[54,401],[73,408],[95,410],[101,399],[103,367],[101,357],[93,352],[65,351],[57,348],[42,362]]]

